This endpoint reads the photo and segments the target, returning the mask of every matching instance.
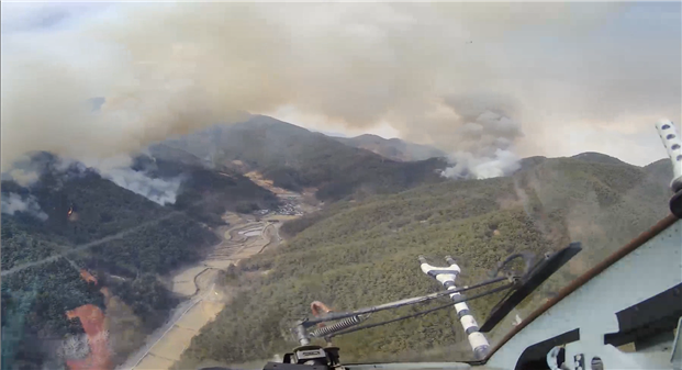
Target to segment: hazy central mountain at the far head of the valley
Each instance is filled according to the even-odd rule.
[[[438,158],[414,162],[390,160],[262,115],[234,125],[215,125],[163,144],[216,166],[257,170],[280,188],[294,191],[314,188],[322,201],[439,182],[443,179],[436,170],[446,167]]]

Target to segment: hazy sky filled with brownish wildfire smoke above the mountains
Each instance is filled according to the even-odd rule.
[[[680,24],[679,2],[2,2],[2,162],[136,150],[249,111],[646,165],[664,157],[655,122],[682,117]]]

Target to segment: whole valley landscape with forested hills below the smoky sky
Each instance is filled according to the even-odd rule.
[[[14,348],[3,360],[27,368],[63,366],[53,344],[82,341],[65,316],[82,305],[112,323],[118,369],[248,363],[290,350],[288,326],[312,300],[345,310],[433,291],[417,255],[456,255],[471,283],[512,253],[582,242],[530,307],[664,215],[670,176],[666,160],[637,167],[586,153],[452,180],[443,159],[391,160],[264,116],[165,142],[122,169],[150,184],[181,179],[172,204],[93,169],[64,170],[47,153],[36,160],[36,183],[2,181],[3,202],[31,201],[45,215],[2,216],[3,330],[19,333],[3,336]],[[494,300],[471,304],[477,319]],[[466,356],[450,322],[441,312],[337,341],[345,360]]]

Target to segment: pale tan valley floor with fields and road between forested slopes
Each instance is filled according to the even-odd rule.
[[[199,330],[235,295],[234,288],[221,283],[224,279],[221,272],[243,259],[277,248],[283,243],[279,235],[282,223],[302,215],[303,208],[297,202],[300,194],[283,191],[279,197],[287,200],[286,205],[277,211],[257,212],[261,216],[233,212],[223,215],[228,226],[213,229],[221,243],[209,248],[201,261],[169,273],[170,290],[186,301],[172,311],[164,326],[147,337],[145,346],[116,369],[170,369],[180,359]],[[282,214],[288,213],[287,205],[299,211]]]

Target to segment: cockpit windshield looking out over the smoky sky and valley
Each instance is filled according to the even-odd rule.
[[[473,285],[581,243],[494,346],[669,213],[653,124],[682,116],[680,16],[2,2],[2,369],[262,368],[314,301],[443,291],[422,264],[446,256]],[[478,326],[506,294],[467,302]],[[342,362],[473,360],[459,311],[332,341]]]

